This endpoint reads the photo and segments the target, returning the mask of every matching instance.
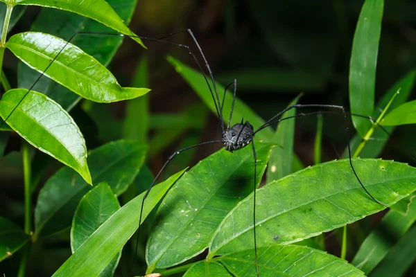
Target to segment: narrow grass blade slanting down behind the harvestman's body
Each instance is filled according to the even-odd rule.
[[[212,100],[211,93],[209,93],[209,89],[207,87],[207,82],[205,82],[205,79],[202,77],[202,73],[199,71],[196,71],[195,69],[191,69],[191,67],[186,66],[182,64],[182,62],[175,60],[173,57],[168,57],[168,61],[175,66],[175,69],[182,77],[188,82],[188,84],[192,87],[194,91],[200,96],[200,98],[205,102],[205,104],[211,109],[211,111],[216,114],[216,108],[214,104],[214,100]],[[211,85],[212,87],[212,85]],[[220,84],[216,83],[216,88],[218,91],[218,94],[220,95],[220,100],[222,101],[222,96],[224,93],[224,87]],[[238,88],[238,83],[237,83]],[[214,93],[214,92],[213,92]],[[228,123],[229,118],[229,112],[231,111],[231,104],[232,104],[232,98],[233,94],[229,91],[226,93],[225,96],[225,107],[223,108],[223,118],[224,123]],[[243,101],[241,101],[239,98],[236,98],[235,101],[235,107],[232,114],[232,123],[240,122],[241,118],[244,118],[244,120],[250,121],[250,123],[254,126],[254,129],[257,127],[260,127],[263,125],[264,120],[261,119],[260,116],[254,113],[248,105],[246,105]],[[226,126],[225,126],[226,127]],[[256,137],[261,140],[268,142],[270,141],[270,138],[273,136],[272,129],[270,127],[265,128],[263,131],[256,134]]]

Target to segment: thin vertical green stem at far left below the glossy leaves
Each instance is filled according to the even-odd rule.
[[[32,195],[31,195],[31,153],[29,144],[24,141],[22,147],[23,172],[24,172],[24,232],[31,235],[32,231]],[[19,277],[23,277],[26,272],[26,262],[28,260],[29,244],[26,245],[19,266]]]

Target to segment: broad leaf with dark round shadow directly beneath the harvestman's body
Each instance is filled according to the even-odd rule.
[[[256,186],[271,146],[256,143]],[[253,162],[251,145],[233,153],[223,149],[184,174],[157,211],[146,247],[148,272],[177,265],[208,247],[221,220],[252,192]]]

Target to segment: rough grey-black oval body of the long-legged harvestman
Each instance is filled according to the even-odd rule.
[[[252,141],[254,136],[254,128],[252,125],[245,121],[233,125],[231,128],[227,128],[223,132],[223,144],[225,150],[233,152],[234,150],[239,150]]]

